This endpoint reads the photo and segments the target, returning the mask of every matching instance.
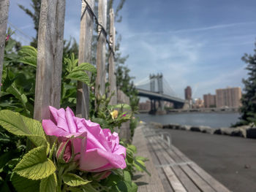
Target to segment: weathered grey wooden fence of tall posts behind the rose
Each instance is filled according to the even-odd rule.
[[[50,118],[48,106],[60,107],[61,99],[61,69],[64,46],[65,0],[42,0],[37,55],[37,79],[34,102],[34,118],[37,120]],[[7,31],[9,0],[0,1],[0,82],[4,61],[4,44]],[[108,79],[110,91],[116,91],[116,75],[114,64],[115,26],[114,13],[110,9],[110,35],[107,31],[107,0],[99,0],[98,17],[94,14],[94,0],[81,2],[80,39],[78,64],[91,63],[91,44],[94,24],[97,25],[97,79],[95,92],[97,96],[105,94],[105,55],[106,42],[109,51]],[[79,18],[78,18],[79,19]],[[94,22],[95,21],[95,22]],[[89,74],[90,76],[90,74]],[[98,89],[99,88],[99,89]],[[110,104],[117,103],[113,96]],[[89,118],[89,88],[83,82],[78,82],[76,115]]]

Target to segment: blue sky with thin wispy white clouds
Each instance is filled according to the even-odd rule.
[[[29,2],[10,0],[9,25],[18,28],[15,37],[25,45],[35,31],[17,4]],[[193,98],[217,88],[243,88],[241,57],[255,48],[255,7],[255,0],[127,0],[116,31],[134,82],[162,73],[181,98],[187,85]],[[79,28],[80,0],[67,0],[64,38],[78,40]]]

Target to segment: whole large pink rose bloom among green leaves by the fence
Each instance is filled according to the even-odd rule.
[[[80,153],[75,156],[75,160],[79,159],[81,170],[103,172],[109,169],[124,169],[127,166],[125,163],[126,148],[119,145],[116,132],[112,134],[108,128],[102,130],[98,123],[75,117],[69,107],[66,111],[56,110],[54,107],[49,108],[50,120],[42,120],[45,134],[59,137],[61,142],[67,142],[67,139],[75,136],[70,141],[72,141],[75,153]],[[86,138],[86,142],[82,142],[83,139],[80,137]],[[69,149],[65,149],[65,153],[64,161],[67,162],[70,158]]]

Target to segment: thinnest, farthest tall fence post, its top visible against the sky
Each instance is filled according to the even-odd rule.
[[[108,59],[109,67],[108,67],[108,81],[110,83],[110,93],[113,91],[115,92],[115,95],[111,98],[110,104],[116,104],[117,103],[117,96],[116,96],[116,65],[114,61],[114,53],[115,53],[115,37],[116,37],[116,28],[114,26],[115,23],[115,15],[113,9],[110,9],[110,36],[109,36],[109,42],[110,47],[112,48],[112,51],[110,50],[110,55]]]

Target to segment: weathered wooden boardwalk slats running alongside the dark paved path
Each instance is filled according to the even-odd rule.
[[[143,128],[146,129],[145,126],[140,126],[138,130],[136,130],[136,134],[138,133],[140,135],[140,141],[142,141],[141,138],[145,135],[142,131]],[[138,137],[138,135],[135,135],[135,139],[136,137]],[[146,138],[147,149],[151,155],[154,168],[157,169],[159,178],[162,181],[162,191],[229,191],[224,185],[219,183],[219,181],[215,180],[214,177],[211,177],[210,174],[195,164],[195,162],[187,158],[187,156],[181,153],[175,146],[168,145],[159,135],[150,134]],[[140,143],[138,143],[137,146],[140,146]],[[139,151],[140,147],[138,147],[138,152]],[[151,172],[151,167],[147,168]],[[150,185],[151,183],[148,183],[148,188],[150,188]],[[140,187],[139,191],[141,191]]]

